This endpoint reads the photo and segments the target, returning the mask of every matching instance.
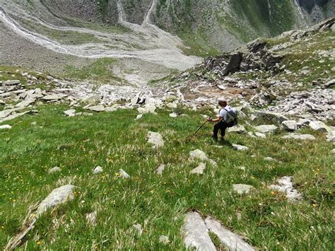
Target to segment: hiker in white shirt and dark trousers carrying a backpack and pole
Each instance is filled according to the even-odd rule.
[[[212,119],[211,117],[207,119],[208,122],[216,122],[212,132],[212,137],[215,140],[218,140],[219,129],[221,130],[221,139],[223,139],[225,136],[225,129],[227,129],[227,127],[233,127],[236,124],[236,120],[234,118],[230,119],[232,116],[228,114],[228,111],[232,108],[228,106],[227,101],[218,100],[218,105],[221,106],[221,109],[218,111],[218,117],[216,119]]]

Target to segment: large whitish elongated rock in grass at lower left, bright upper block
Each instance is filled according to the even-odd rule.
[[[68,199],[73,199],[74,188],[74,185],[64,185],[52,190],[52,192],[45,199],[43,199],[40,205],[37,207],[37,217],[47,211],[47,209],[52,209],[54,206],[62,204]]]

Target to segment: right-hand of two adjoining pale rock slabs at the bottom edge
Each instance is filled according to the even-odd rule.
[[[214,220],[211,217],[205,219],[208,230],[215,233],[218,236],[221,244],[223,244],[228,250],[239,250],[239,251],[255,251],[254,247],[246,243],[241,236],[233,233],[220,222]]]

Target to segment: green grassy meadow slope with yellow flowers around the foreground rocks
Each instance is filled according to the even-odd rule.
[[[229,134],[225,143],[214,143],[209,125],[187,137],[201,123],[201,112],[180,110],[189,116],[173,119],[159,110],[135,121],[134,110],[64,117],[67,109],[42,105],[38,115],[15,119],[11,130],[0,132],[0,247],[20,228],[31,204],[71,183],[78,187],[74,200],[37,221],[28,250],[183,250],[184,213],[192,209],[218,218],[260,249],[334,249],[334,158],[322,134],[306,130],[317,136],[308,142],[281,139],[279,132],[266,140]],[[163,134],[163,148],[146,143],[149,130]],[[250,149],[237,152],[231,143]],[[201,176],[189,174],[197,165],[188,160],[189,151],[196,148],[218,163],[208,164]],[[281,163],[267,162],[267,156]],[[161,177],[155,173],[160,163],[167,164]],[[61,172],[48,174],[56,165]],[[104,172],[93,175],[97,165]],[[120,168],[131,178],[122,180]],[[283,175],[293,175],[302,202],[292,204],[266,188]],[[232,192],[235,183],[256,189],[238,195]],[[86,222],[92,211],[98,212],[95,227]],[[134,223],[143,226],[142,235]],[[160,235],[170,244],[160,244]]]

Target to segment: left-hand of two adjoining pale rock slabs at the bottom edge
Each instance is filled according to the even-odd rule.
[[[189,212],[186,215],[183,226],[184,243],[187,248],[196,250],[216,251],[216,247],[208,235],[208,228],[196,212]]]

